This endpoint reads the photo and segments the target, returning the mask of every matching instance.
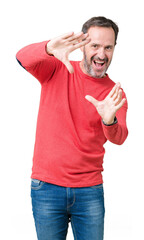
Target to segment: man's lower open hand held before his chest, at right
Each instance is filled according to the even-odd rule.
[[[85,96],[95,107],[99,115],[102,117],[104,123],[112,124],[116,112],[124,105],[126,99],[122,99],[122,89],[120,83],[115,84],[110,93],[103,101],[98,101],[92,96]]]

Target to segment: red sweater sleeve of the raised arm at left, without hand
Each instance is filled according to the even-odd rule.
[[[16,54],[19,64],[43,84],[53,76],[59,60],[46,52],[48,41],[34,43],[22,48]]]

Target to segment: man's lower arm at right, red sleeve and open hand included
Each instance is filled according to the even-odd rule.
[[[122,144],[128,135],[126,126],[127,101],[120,84],[116,84],[103,101],[86,96],[102,118],[102,127],[107,140]]]

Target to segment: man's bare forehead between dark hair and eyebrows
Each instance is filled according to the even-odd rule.
[[[115,32],[111,27],[91,27],[88,30],[90,43],[114,45]]]

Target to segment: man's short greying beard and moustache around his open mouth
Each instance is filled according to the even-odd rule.
[[[106,73],[106,71],[107,71],[107,69],[108,69],[108,67],[109,67],[109,65],[110,65],[110,63],[111,63],[111,61],[110,61],[110,63],[108,64],[108,58],[105,58],[105,59],[100,59],[100,58],[98,58],[98,57],[95,57],[95,56],[93,56],[91,59],[90,59],[90,63],[88,62],[88,59],[87,59],[87,55],[86,55],[86,52],[85,52],[85,49],[84,49],[84,68],[85,68],[85,70],[86,70],[86,72],[88,73],[88,75],[90,75],[91,77],[93,77],[93,78],[103,78],[104,76],[105,76],[105,73]],[[105,64],[106,64],[106,66],[105,66],[105,69],[103,70],[103,71],[95,71],[94,69],[93,69],[93,67],[92,67],[92,61],[93,60],[103,60],[103,61],[105,61]]]

